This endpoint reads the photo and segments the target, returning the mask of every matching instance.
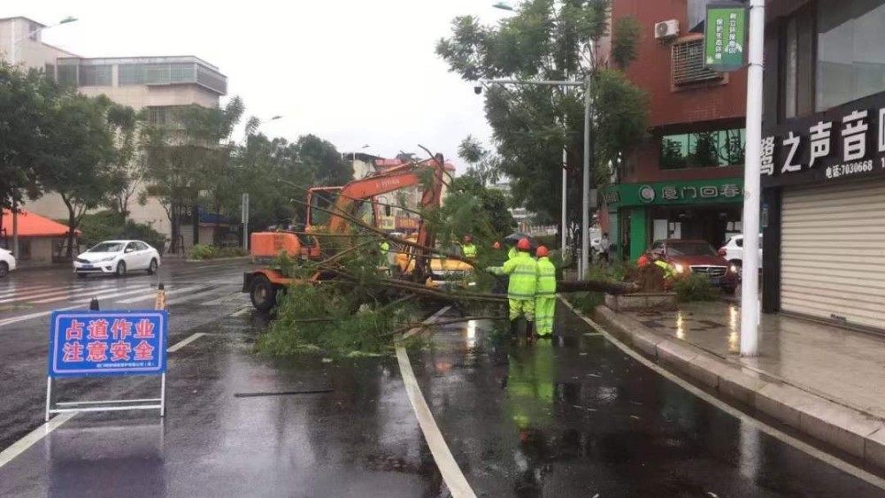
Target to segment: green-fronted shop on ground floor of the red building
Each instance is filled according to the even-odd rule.
[[[635,261],[661,239],[700,239],[719,248],[742,230],[743,179],[620,183],[603,190],[608,233]]]

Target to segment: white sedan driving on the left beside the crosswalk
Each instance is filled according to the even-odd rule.
[[[104,241],[73,260],[73,272],[78,277],[89,273],[113,273],[118,277],[126,272],[145,270],[157,272],[160,253],[142,241]]]

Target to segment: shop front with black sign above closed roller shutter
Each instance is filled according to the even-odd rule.
[[[885,93],[763,133],[763,308],[885,330]]]

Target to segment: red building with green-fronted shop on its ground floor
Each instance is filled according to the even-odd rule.
[[[643,27],[629,79],[649,95],[649,133],[603,190],[602,224],[623,257],[663,238],[713,245],[741,232],[746,70],[704,66],[704,0],[613,0],[612,24]]]

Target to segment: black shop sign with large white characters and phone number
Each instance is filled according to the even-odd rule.
[[[764,133],[766,185],[885,175],[885,102],[873,96]],[[878,102],[877,102],[878,101]]]

